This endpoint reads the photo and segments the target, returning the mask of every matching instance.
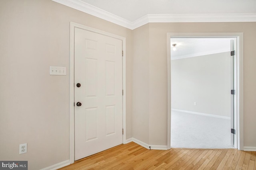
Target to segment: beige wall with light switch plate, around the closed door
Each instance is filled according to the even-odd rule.
[[[70,21],[126,37],[126,137],[132,137],[132,31],[51,0],[0,1],[0,160],[36,170],[69,159]],[[65,66],[67,76],[50,76]],[[19,144],[28,152],[19,154]]]

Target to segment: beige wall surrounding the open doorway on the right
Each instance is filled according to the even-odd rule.
[[[244,33],[244,146],[256,147],[256,57],[254,45],[256,22],[250,23],[149,23],[150,41],[150,141],[167,145],[167,33],[243,32]],[[135,80],[135,77],[134,77]],[[133,96],[134,98],[134,96]],[[165,119],[165,120],[164,120]],[[135,129],[133,129],[135,131]],[[155,140],[158,139],[158,144]],[[152,140],[151,140],[152,139]]]

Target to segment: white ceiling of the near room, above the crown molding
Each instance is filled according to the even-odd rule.
[[[256,0],[81,0],[129,21],[147,14],[256,13]]]

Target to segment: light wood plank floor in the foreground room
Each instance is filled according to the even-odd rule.
[[[118,145],[60,170],[256,170],[256,152],[236,149],[148,150]]]

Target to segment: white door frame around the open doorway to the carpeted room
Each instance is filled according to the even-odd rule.
[[[167,33],[167,75],[168,75],[168,114],[167,114],[167,147],[171,148],[171,42],[174,37],[235,37],[236,51],[236,101],[235,110],[237,116],[237,149],[244,150],[244,125],[243,125],[243,33]]]

